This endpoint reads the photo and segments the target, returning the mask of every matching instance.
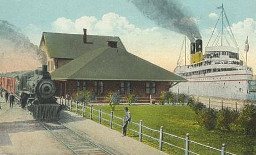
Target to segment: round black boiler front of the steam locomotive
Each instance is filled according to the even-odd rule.
[[[36,86],[36,95],[43,99],[49,99],[55,94],[56,87],[52,80],[42,79]]]

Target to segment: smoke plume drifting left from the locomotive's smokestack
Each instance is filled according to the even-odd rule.
[[[47,58],[32,44],[22,30],[6,20],[0,20],[0,72],[31,70],[45,65]]]

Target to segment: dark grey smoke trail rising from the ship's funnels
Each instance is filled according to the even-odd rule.
[[[174,0],[127,0],[160,27],[187,35],[190,42],[201,35],[194,18]]]

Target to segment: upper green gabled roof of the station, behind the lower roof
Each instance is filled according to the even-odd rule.
[[[104,35],[87,35],[87,43],[83,43],[83,34],[64,34],[43,32],[41,44],[46,44],[50,58],[74,59],[86,51],[107,46],[108,41],[118,42],[118,48],[124,48],[119,37]]]

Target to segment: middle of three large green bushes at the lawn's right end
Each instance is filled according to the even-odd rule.
[[[230,125],[238,118],[238,112],[224,108],[217,114],[217,128],[230,131]]]

